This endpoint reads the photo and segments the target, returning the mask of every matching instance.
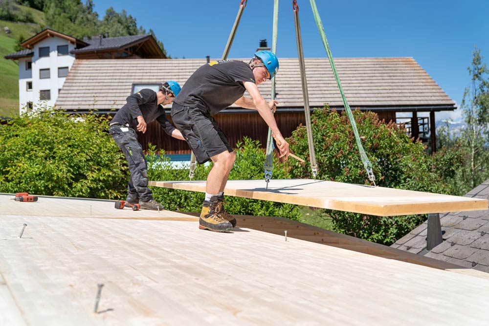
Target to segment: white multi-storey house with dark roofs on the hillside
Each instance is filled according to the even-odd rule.
[[[166,58],[151,34],[78,40],[44,29],[5,59],[19,60],[19,110],[54,106],[75,59]]]

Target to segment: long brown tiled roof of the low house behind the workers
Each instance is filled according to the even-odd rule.
[[[248,62],[249,59],[235,59]],[[307,58],[310,107],[343,108],[326,58]],[[133,83],[176,80],[180,85],[204,59],[75,60],[56,104],[66,110],[118,109],[126,103]],[[335,64],[352,108],[390,111],[456,109],[455,102],[413,58],[337,58]],[[258,86],[270,98],[270,83]],[[297,58],[281,58],[276,77],[279,110],[302,110]],[[168,106],[169,108],[169,106]],[[231,108],[237,109],[236,106]]]

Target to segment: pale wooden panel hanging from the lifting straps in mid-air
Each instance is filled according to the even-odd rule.
[[[205,181],[150,181],[150,186],[205,192]],[[371,187],[349,183],[294,179],[229,180],[228,196],[283,202],[377,216],[487,210],[480,198]]]

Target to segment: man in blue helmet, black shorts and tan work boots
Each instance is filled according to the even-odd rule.
[[[277,139],[280,156],[286,159],[289,156],[289,144],[272,114],[278,102],[266,102],[257,87],[275,77],[278,67],[278,59],[271,51],[256,52],[249,63],[211,61],[187,79],[173,102],[172,120],[197,161],[200,164],[208,160],[214,162],[207,176],[200,229],[226,232],[236,226],[236,218],[223,206],[224,187],[236,155],[212,115],[233,103],[244,109],[257,110]],[[243,96],[245,91],[251,98]]]

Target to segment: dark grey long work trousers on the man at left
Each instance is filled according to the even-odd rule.
[[[128,197],[148,201],[153,199],[153,192],[148,188],[148,165],[141,144],[137,141],[137,133],[130,127],[112,125],[109,133],[115,143],[126,155],[131,177],[128,184]]]

